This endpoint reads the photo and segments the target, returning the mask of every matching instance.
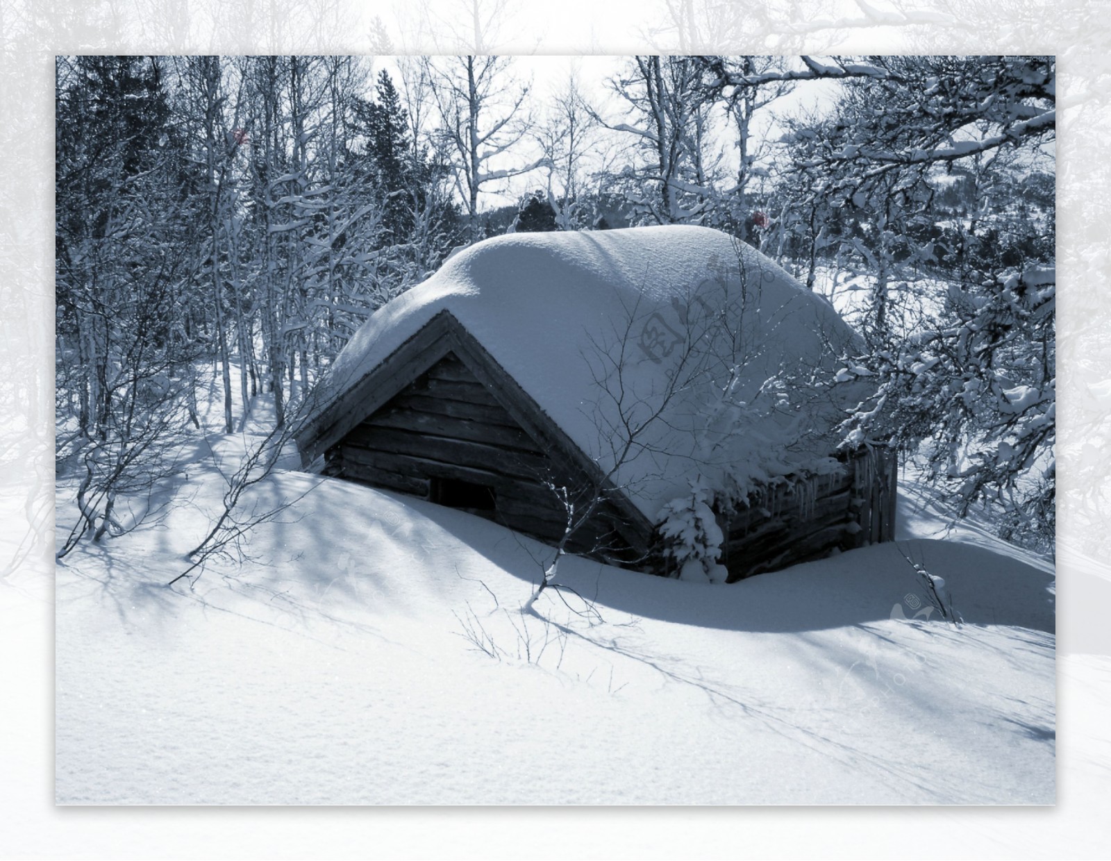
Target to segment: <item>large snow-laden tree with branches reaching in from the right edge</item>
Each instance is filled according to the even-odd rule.
[[[840,243],[872,280],[870,351],[858,364],[879,389],[848,427],[921,451],[960,515],[985,503],[1004,537],[1044,548],[1055,499],[1055,203],[1044,152],[1055,140],[1055,62],[865,66],[877,70],[867,83],[848,83],[832,112],[790,137],[802,206],[852,213]],[[815,223],[811,237],[827,227],[837,226]],[[890,289],[915,268],[943,287],[914,330],[893,329],[902,309]],[[903,289],[900,301],[912,296]]]

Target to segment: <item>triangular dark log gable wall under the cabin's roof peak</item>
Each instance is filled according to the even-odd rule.
[[[468,509],[556,543],[567,512],[548,487],[581,488],[453,353],[433,364],[326,452],[324,471],[430,499],[437,479],[492,488],[491,511]],[[581,500],[580,500],[581,501]],[[642,555],[614,530],[602,505],[568,549],[629,563]]]

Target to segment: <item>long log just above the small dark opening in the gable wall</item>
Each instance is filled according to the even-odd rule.
[[[349,449],[371,449],[391,454],[410,454],[442,463],[458,463],[503,475],[540,479],[551,470],[548,459],[523,451],[508,451],[470,440],[409,433],[392,428],[360,424],[343,440],[344,457]]]

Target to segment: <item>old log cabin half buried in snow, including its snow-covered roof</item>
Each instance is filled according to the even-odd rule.
[[[327,474],[550,543],[584,519],[570,552],[644,570],[665,511],[704,500],[735,580],[891,538],[893,458],[838,452],[858,347],[715,230],[509,234],[376,311],[297,441]]]

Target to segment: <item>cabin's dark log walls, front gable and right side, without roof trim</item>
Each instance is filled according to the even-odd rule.
[[[785,480],[719,514],[730,581],[894,538],[894,453],[862,449],[841,460],[838,473]],[[544,482],[590,495],[452,353],[347,432],[326,463],[328,474],[422,499],[434,499],[444,480],[490,488],[492,508],[467,510],[550,544],[562,538],[567,512]],[[584,499],[574,500],[580,509]],[[568,550],[665,572],[658,552],[621,537],[618,524],[628,522],[619,517],[617,507],[601,505]]]

